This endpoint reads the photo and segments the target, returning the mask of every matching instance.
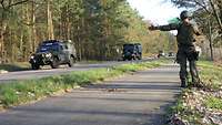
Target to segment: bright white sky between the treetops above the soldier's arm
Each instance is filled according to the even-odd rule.
[[[167,0],[128,0],[132,8],[154,24],[167,24],[168,20],[180,15],[181,9]]]

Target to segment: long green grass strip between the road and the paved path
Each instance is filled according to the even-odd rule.
[[[113,67],[78,71],[65,75],[54,75],[39,80],[14,81],[0,84],[0,106],[7,108],[29,103],[58,92],[67,92],[109,77],[120,76],[139,70],[157,67],[163,61],[123,64]]]

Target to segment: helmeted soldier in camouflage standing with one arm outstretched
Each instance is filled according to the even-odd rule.
[[[181,87],[185,87],[188,85],[186,61],[189,61],[192,83],[194,86],[198,86],[200,85],[200,77],[195,62],[198,61],[199,53],[196,52],[194,46],[194,35],[200,35],[201,33],[199,32],[198,27],[191,21],[192,15],[189,11],[182,11],[180,14],[180,23],[171,23],[168,25],[159,27],[151,25],[149,29],[161,31],[178,30],[176,62],[180,64]]]

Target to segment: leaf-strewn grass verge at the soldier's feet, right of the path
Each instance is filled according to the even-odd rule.
[[[214,125],[204,121],[211,121],[211,113],[222,112],[222,66],[200,61],[198,67],[203,87],[184,88],[168,113],[170,116],[179,115],[191,125]]]

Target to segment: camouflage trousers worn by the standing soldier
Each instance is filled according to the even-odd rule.
[[[180,80],[181,85],[184,86],[188,83],[188,62],[189,62],[189,69],[190,74],[192,77],[192,83],[196,84],[200,82],[198,69],[196,69],[196,61],[198,56],[195,53],[195,49],[193,46],[191,48],[179,48],[179,51],[176,53],[176,62],[180,64]]]

